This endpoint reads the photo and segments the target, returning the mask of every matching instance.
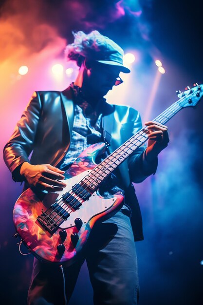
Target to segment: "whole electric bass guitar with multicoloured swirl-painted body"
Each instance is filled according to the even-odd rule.
[[[187,88],[184,93],[177,92],[179,100],[153,121],[166,124],[181,109],[194,107],[203,96],[203,85]],[[84,248],[95,222],[110,217],[123,206],[121,192],[105,198],[100,195],[99,186],[148,140],[146,132],[147,128],[142,128],[100,164],[95,160],[105,151],[105,144],[88,147],[65,172],[67,187],[63,191],[24,191],[13,211],[20,244],[44,262],[71,265]]]

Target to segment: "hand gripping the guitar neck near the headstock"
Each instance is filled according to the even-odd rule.
[[[152,161],[157,155],[167,147],[169,142],[168,128],[157,122],[146,122],[148,128],[148,147],[146,149],[146,157],[148,161]]]

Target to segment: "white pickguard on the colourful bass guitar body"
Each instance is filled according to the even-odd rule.
[[[61,192],[55,192],[55,193],[49,193],[46,195],[46,197],[43,200],[43,203],[45,206],[50,207],[51,204],[55,202],[56,199],[60,198],[63,194],[66,192],[72,192],[70,191],[71,188],[79,183],[88,173],[90,173],[91,170],[85,171],[80,173],[79,175],[72,177],[70,179],[63,180],[67,186],[63,189]],[[82,202],[82,200],[81,200]],[[115,197],[112,196],[112,198],[104,199],[104,197],[97,195],[96,192],[92,194],[92,196],[89,198],[89,200],[83,201],[82,206],[80,206],[79,210],[72,211],[70,213],[70,216],[66,221],[64,221],[61,225],[61,229],[68,229],[70,227],[75,226],[74,220],[76,218],[80,218],[83,222],[83,224],[87,224],[88,221],[95,216],[96,214],[99,214],[105,210],[108,210],[113,203],[115,202]]]

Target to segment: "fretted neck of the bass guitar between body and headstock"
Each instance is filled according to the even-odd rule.
[[[166,124],[181,109],[182,107],[179,103],[175,102],[163,113],[159,114],[153,122]],[[91,191],[95,191],[111,172],[148,140],[147,131],[147,127],[144,127],[138,133],[135,133],[128,141],[98,164],[81,182],[87,185]]]

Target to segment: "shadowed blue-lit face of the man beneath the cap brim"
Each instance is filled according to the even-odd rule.
[[[93,62],[87,72],[88,87],[92,93],[104,96],[115,85],[120,68],[99,62]]]

